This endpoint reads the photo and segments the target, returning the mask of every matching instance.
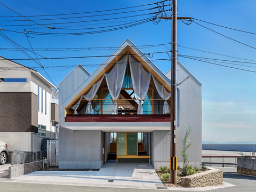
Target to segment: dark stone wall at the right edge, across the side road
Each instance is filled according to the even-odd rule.
[[[239,174],[256,175],[256,159],[237,157],[236,172]]]

